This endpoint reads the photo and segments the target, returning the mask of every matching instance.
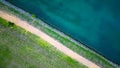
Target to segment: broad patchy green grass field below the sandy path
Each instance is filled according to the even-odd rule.
[[[41,38],[8,25],[0,18],[0,68],[87,68]]]

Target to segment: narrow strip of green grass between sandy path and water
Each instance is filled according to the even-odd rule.
[[[81,44],[76,44],[75,42],[71,41],[68,36],[63,36],[56,32],[53,28],[50,28],[46,26],[46,24],[40,22],[39,20],[34,19],[32,16],[29,16],[28,13],[21,13],[17,11],[15,8],[11,8],[10,6],[6,6],[5,4],[1,4],[2,8],[0,8],[3,11],[6,11],[8,13],[12,13],[18,17],[20,17],[23,20],[29,21],[29,23],[33,26],[35,26],[38,29],[41,29],[51,37],[57,39],[61,43],[63,43],[65,46],[70,48],[71,50],[77,52],[78,54],[84,56],[85,58],[93,61],[94,63],[98,64],[102,68],[116,68],[115,65],[111,64],[109,61],[107,61],[102,56],[97,55],[96,53],[92,52],[91,50],[84,48]],[[28,15],[27,15],[28,14]]]

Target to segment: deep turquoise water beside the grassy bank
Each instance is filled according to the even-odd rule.
[[[120,0],[6,0],[120,65]]]

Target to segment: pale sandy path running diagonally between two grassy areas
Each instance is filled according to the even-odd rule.
[[[69,57],[71,57],[71,58],[75,59],[76,61],[78,61],[79,63],[82,63],[82,64],[86,65],[89,68],[100,68],[95,63],[93,63],[93,62],[87,60],[86,58],[80,56],[79,54],[73,52],[72,50],[70,50],[69,48],[65,47],[60,42],[56,41],[52,37],[50,37],[47,34],[45,34],[44,32],[42,32],[41,30],[38,30],[37,28],[29,25],[27,23],[27,21],[23,21],[20,18],[18,18],[16,16],[13,16],[13,15],[10,15],[8,13],[5,13],[3,11],[0,11],[0,17],[6,19],[8,21],[11,21],[11,22],[15,23],[16,25],[24,28],[25,30],[27,30],[27,31],[29,31],[29,32],[39,36],[40,38],[44,39],[45,41],[47,41],[48,43],[53,45],[54,47],[56,47],[58,50],[60,50],[64,54],[66,54]]]

